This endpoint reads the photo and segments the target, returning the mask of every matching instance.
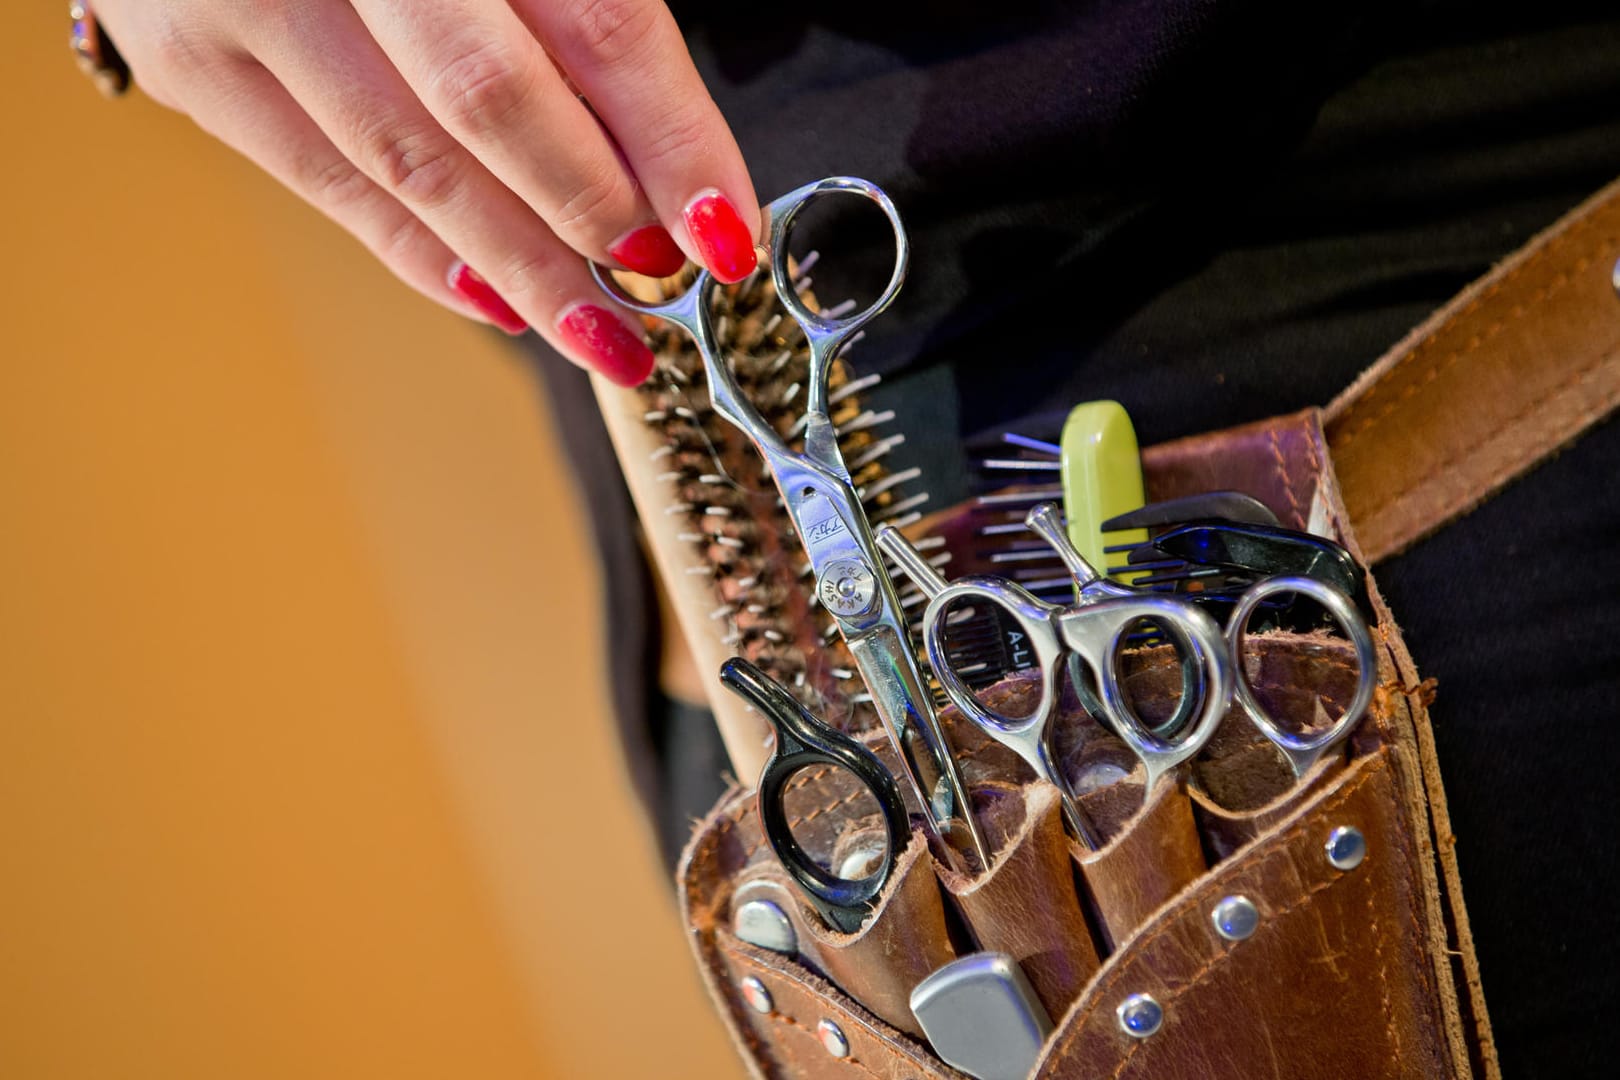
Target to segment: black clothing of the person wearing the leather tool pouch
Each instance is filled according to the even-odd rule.
[[[888,376],[899,465],[923,466],[936,507],[970,494],[975,442],[1051,437],[1082,400],[1124,403],[1144,445],[1327,403],[1620,175],[1612,2],[1003,6],[674,5],[763,199],[836,173],[894,196],[912,274],[852,363]],[[823,256],[823,298],[888,267],[854,220]],[[548,376],[559,398],[582,393],[572,369]],[[611,468],[590,415],[557,413],[591,473]],[[1617,474],[1609,423],[1377,568],[1440,683],[1435,738],[1510,1077],[1609,1072]],[[627,504],[593,510],[632,520]],[[724,758],[646,682],[645,568],[630,546],[608,555],[616,656],[629,638],[648,661],[616,672],[620,716],[676,850]]]

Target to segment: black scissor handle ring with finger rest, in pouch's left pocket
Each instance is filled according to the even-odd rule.
[[[894,861],[910,839],[910,819],[894,777],[876,755],[859,742],[815,719],[770,675],[748,661],[732,657],[721,664],[719,680],[727,690],[758,709],[776,729],[776,748],[760,772],[760,823],[765,839],[787,874],[834,929],[852,934],[876,907]],[[888,844],[876,870],[865,878],[839,878],[825,870],[799,845],[787,824],[782,803],[787,780],[800,769],[836,766],[852,772],[878,800]]]

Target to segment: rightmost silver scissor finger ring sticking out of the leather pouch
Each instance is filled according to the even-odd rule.
[[[1294,735],[1293,732],[1283,730],[1254,695],[1254,687],[1249,685],[1249,677],[1244,674],[1243,667],[1243,638],[1249,627],[1249,617],[1254,614],[1256,607],[1278,593],[1296,593],[1314,599],[1327,610],[1328,615],[1333,617],[1349,638],[1351,646],[1356,649],[1354,696],[1351,696],[1349,704],[1345,706],[1345,712],[1340,714],[1333,724],[1311,735]],[[1317,581],[1315,578],[1265,578],[1264,581],[1257,581],[1244,589],[1226,622],[1226,648],[1231,654],[1231,667],[1238,672],[1238,706],[1244,711],[1244,714],[1247,714],[1249,721],[1260,729],[1260,733],[1283,751],[1288,758],[1288,764],[1294,771],[1294,777],[1302,777],[1311,766],[1322,758],[1322,755],[1332,750],[1351,732],[1353,727],[1356,727],[1362,712],[1367,711],[1367,704],[1372,701],[1372,691],[1379,680],[1379,657],[1372,646],[1372,631],[1367,630],[1367,623],[1362,620],[1361,612],[1356,610],[1356,606],[1348,596],[1335,589],[1332,585]]]

